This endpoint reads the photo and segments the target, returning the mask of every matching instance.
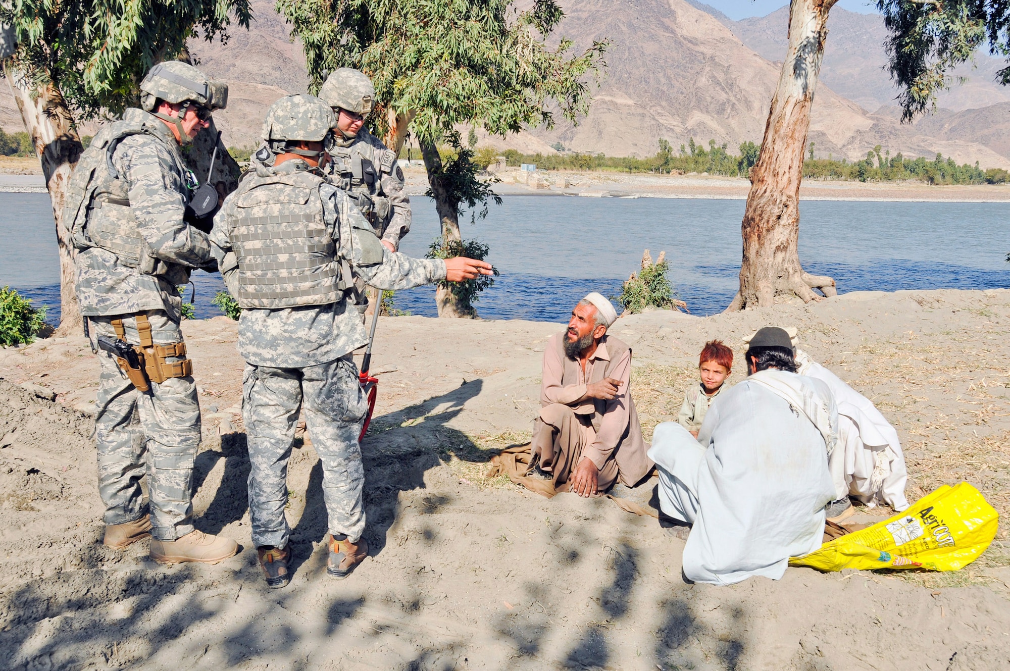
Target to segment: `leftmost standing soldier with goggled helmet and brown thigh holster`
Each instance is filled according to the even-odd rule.
[[[96,402],[98,488],[106,546],[122,549],[154,536],[152,559],[215,563],[234,541],[195,531],[193,462],[200,405],[179,327],[176,286],[195,268],[212,268],[206,233],[187,222],[190,190],[180,146],[207,127],[227,87],[196,68],[169,62],[140,83],[141,106],[102,128],[68,187],[64,221],[77,255],[81,313],[107,346]],[[132,347],[129,347],[132,346]],[[134,363],[136,363],[134,361]],[[146,474],[149,514],[140,479]]]

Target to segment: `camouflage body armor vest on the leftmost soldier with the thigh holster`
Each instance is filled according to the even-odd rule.
[[[146,134],[169,149],[173,169],[186,183],[186,167],[178,149],[165,142],[148,124],[161,123],[139,109],[127,109],[122,120],[105,125],[74,169],[67,188],[64,222],[78,250],[97,247],[116,255],[118,263],[146,275],[162,275],[168,265],[156,259],[137,229],[129,202],[129,187],[112,164],[119,142],[129,135]],[[183,194],[184,200],[186,194]]]

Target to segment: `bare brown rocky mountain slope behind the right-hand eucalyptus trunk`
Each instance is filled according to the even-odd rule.
[[[770,20],[755,23],[761,30],[745,33],[734,25],[737,22],[725,16],[720,20],[713,15],[718,12],[711,8],[703,11],[699,7],[704,5],[685,0],[566,0],[563,6],[567,16],[560,32],[580,45],[609,37],[609,67],[582,124],[559,126],[553,131],[538,129],[533,134],[550,143],[560,140],[577,151],[625,156],[653,154],[659,137],[666,137],[674,147],[691,136],[703,143],[709,138],[727,142],[730,148],[761,140],[780,70],[780,64],[768,57],[779,54],[781,59],[785,55],[785,42],[778,49],[774,41],[780,38],[777,34],[784,38],[786,32],[785,23],[774,29],[776,20],[783,16],[780,12],[771,15],[777,18],[766,17]],[[845,12],[841,16],[844,23],[861,15]],[[759,49],[745,44],[729,25],[745,33]],[[849,34],[850,41],[862,39],[865,44],[883,40],[882,35],[861,33],[855,28],[849,29]],[[883,54],[882,47],[877,49]],[[767,57],[760,50],[767,52]],[[847,67],[856,68],[851,63]],[[848,71],[838,66],[836,72]],[[836,79],[845,81],[841,75]],[[887,110],[882,112],[868,112],[822,79],[810,130],[816,155],[858,159],[874,146],[883,145],[906,156],[931,158],[940,152],[958,163],[1010,165],[1010,156],[968,133],[924,134],[917,126],[902,125]],[[942,128],[929,126],[932,130]]]

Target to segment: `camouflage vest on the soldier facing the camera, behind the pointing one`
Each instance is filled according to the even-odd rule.
[[[333,182],[356,201],[381,235],[393,217],[393,208],[382,189],[382,176],[396,169],[396,155],[370,140],[379,141],[363,128],[350,145],[337,145],[328,153],[333,160]]]

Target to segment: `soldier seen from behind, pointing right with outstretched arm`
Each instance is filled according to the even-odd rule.
[[[243,308],[242,419],[251,470],[252,542],[272,588],[288,584],[287,468],[304,404],[322,462],[329,516],[327,572],[346,577],[368,555],[358,436],[368,410],[351,353],[368,335],[345,292],[356,277],[386,289],[490,273],[470,259],[411,259],[390,252],[345,192],[325,177],[336,119],[323,100],[281,98],[257,162],[215,217],[210,241],[228,291]]]

